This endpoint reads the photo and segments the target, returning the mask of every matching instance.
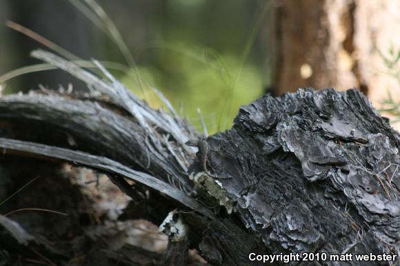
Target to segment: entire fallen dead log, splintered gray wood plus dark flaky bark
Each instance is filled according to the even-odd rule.
[[[359,91],[263,96],[239,110],[231,130],[206,139],[206,156],[195,156],[185,143],[199,135],[172,108],[152,110],[107,73],[110,81],[102,81],[46,52],[34,57],[103,96],[0,98],[0,148],[108,173],[146,205],[143,218],[164,220],[174,242],[166,265],[183,264],[173,252],[186,250],[184,241],[212,265],[262,265],[249,260],[252,252],[328,254],[290,265],[399,252],[400,136]]]

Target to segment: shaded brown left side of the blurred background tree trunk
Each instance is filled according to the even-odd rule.
[[[277,95],[296,92],[298,88],[335,88],[337,40],[330,32],[328,15],[337,13],[327,3],[319,0],[277,3],[272,37],[272,85]]]

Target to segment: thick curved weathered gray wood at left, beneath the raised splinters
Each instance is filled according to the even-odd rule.
[[[159,152],[172,146],[177,154],[184,152],[187,156],[187,152],[182,150],[179,144],[165,138],[159,139],[157,148],[154,147],[137,121],[99,103],[56,95],[10,95],[0,99],[0,118],[4,121],[24,119],[11,125],[19,127],[14,129],[12,134],[19,134],[21,139],[33,141],[39,138],[38,141],[42,143],[57,143],[70,147],[68,139],[72,138],[79,150],[107,155],[121,163],[133,165],[138,170],[158,176],[164,181],[168,181],[168,176],[172,176],[181,184],[183,190],[190,191],[192,188],[191,182],[185,176],[185,169],[181,167],[181,164],[188,164],[188,161],[179,164],[172,154]],[[43,123],[46,124],[47,136],[41,131]],[[22,127],[25,128],[23,132]],[[154,132],[158,130],[162,129],[154,129]],[[59,134],[52,136],[50,132]],[[186,156],[181,158],[186,160]]]

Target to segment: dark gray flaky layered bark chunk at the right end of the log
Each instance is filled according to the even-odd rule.
[[[209,143],[243,223],[272,253],[399,247],[399,134],[357,90],[264,96]]]

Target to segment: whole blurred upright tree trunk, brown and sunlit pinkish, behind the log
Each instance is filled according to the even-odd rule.
[[[279,1],[274,8],[275,92],[359,88],[378,105],[399,100],[397,1]],[[393,50],[393,54],[390,54]],[[388,59],[385,61],[385,59]]]

